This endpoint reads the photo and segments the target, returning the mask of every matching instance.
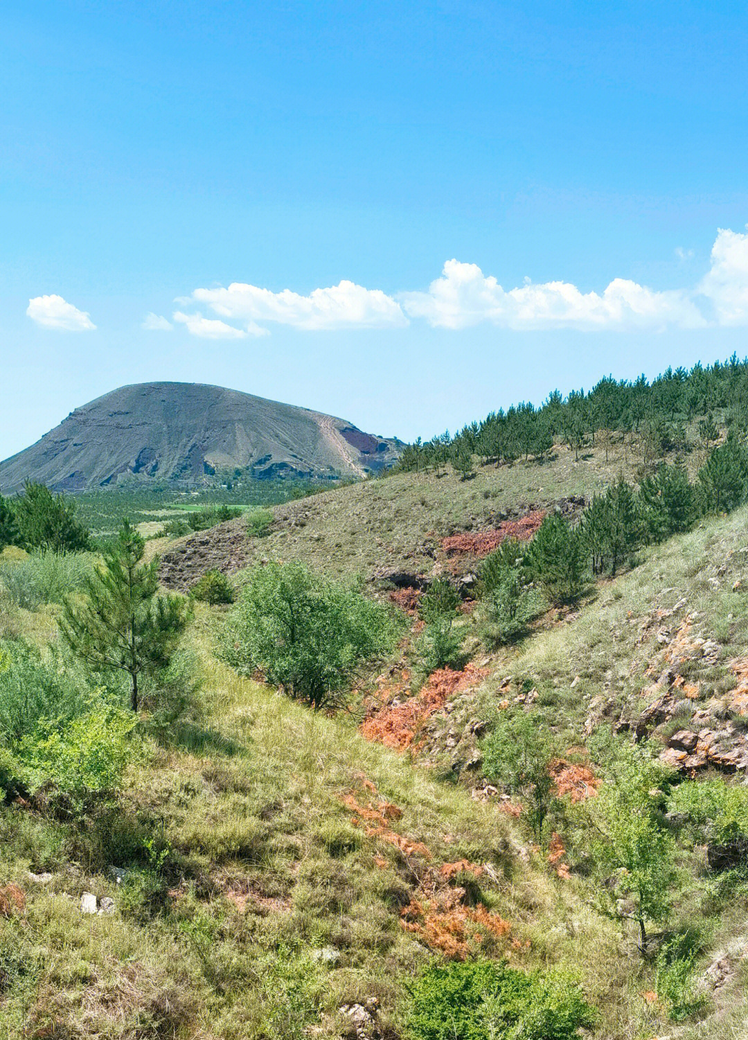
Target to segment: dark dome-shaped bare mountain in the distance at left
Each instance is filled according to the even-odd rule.
[[[141,383],[76,409],[0,463],[0,488],[26,478],[63,491],[133,476],[194,484],[235,469],[265,478],[363,476],[397,451],[393,440],[309,409],[197,383]]]

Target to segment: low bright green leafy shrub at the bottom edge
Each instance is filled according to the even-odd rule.
[[[596,1017],[568,976],[503,961],[428,967],[408,989],[410,1040],[575,1040]]]

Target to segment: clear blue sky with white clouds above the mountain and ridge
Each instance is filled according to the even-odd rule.
[[[6,0],[0,458],[124,383],[409,439],[745,355],[746,53],[729,0]]]

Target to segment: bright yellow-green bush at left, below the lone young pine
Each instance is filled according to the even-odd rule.
[[[137,720],[123,708],[99,708],[60,724],[41,720],[16,754],[24,783],[43,788],[58,806],[81,811],[91,800],[116,790],[135,745]]]

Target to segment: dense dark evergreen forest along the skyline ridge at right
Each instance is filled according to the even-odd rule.
[[[748,434],[748,359],[737,355],[724,362],[687,371],[668,368],[652,383],[644,375],[635,382],[602,379],[592,390],[572,390],[563,397],[559,390],[536,408],[529,401],[508,411],[491,412],[482,422],[472,422],[451,437],[449,432],[407,445],[398,469],[438,472],[451,463],[468,475],[472,457],[485,464],[511,464],[517,459],[542,459],[557,441],[578,454],[584,444],[595,443],[602,432],[637,435],[645,461],[665,452],[688,450],[686,425],[698,417],[698,436],[710,448],[719,439],[720,422],[733,435]],[[606,439],[606,449],[609,439]]]

